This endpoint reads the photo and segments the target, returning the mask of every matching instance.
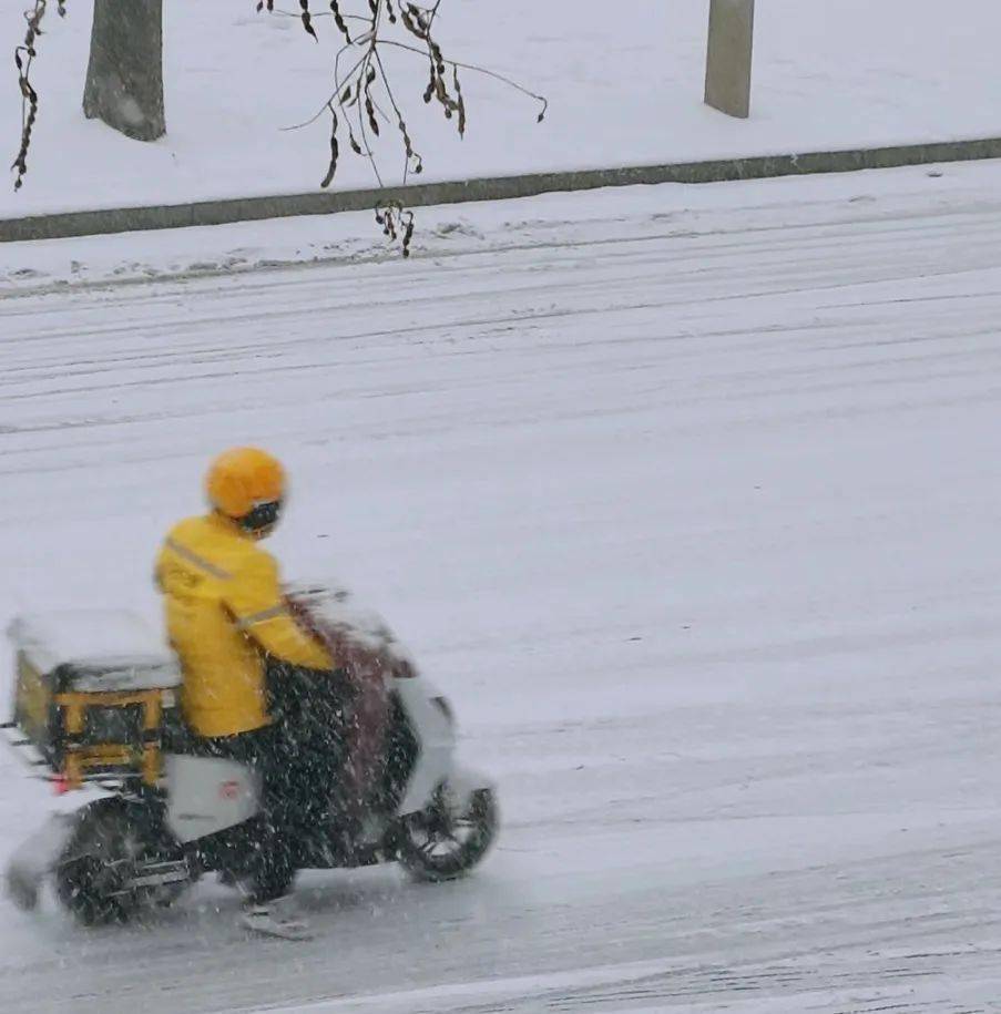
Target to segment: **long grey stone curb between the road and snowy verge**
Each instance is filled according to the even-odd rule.
[[[532,173],[496,176],[387,190],[355,190],[289,194],[275,197],[238,197],[167,204],[152,207],[108,208],[67,212],[23,218],[0,219],[0,243],[31,239],[62,239],[144,229],[185,228],[200,225],[227,225],[263,218],[290,218],[299,215],[330,215],[337,212],[370,211],[379,203],[400,201],[408,207],[463,204],[471,201],[505,201],[534,197],[561,191],[596,190],[605,186],[634,186],[658,183],[726,183],[772,176],[813,173],[850,173],[870,168],[896,168],[938,162],[971,162],[1001,158],[1001,137],[946,141],[891,147],[809,152],[791,155],[759,155],[748,158],[721,158],[665,165],[583,170],[565,173]]]

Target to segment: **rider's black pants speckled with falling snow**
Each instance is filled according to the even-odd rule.
[[[258,903],[288,893],[341,809],[349,708],[343,685],[325,675],[315,694],[286,695],[273,725],[200,744],[210,756],[249,765],[261,778],[262,812],[237,836],[231,870],[252,882]]]

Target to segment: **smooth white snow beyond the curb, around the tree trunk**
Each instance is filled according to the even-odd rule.
[[[298,10],[294,0],[276,6]],[[345,10],[356,6],[351,0]],[[23,35],[25,7],[33,4],[0,3],[8,50]],[[0,186],[0,217],[317,188],[327,167],[326,120],[280,131],[313,116],[331,92],[331,19],[317,18],[316,45],[295,18],[258,16],[255,7],[256,0],[164,4],[170,133],[144,145],[80,114],[92,0],[74,0],[65,21],[50,4],[34,71],[41,111],[31,171],[20,194]],[[326,8],[313,3],[317,13]],[[537,125],[531,100],[467,72],[469,133],[460,142],[453,123],[420,101],[426,64],[389,53],[425,180],[1001,131],[997,0],[952,0],[948,8],[940,0],[759,3],[747,122],[702,101],[708,0],[447,0],[438,23],[447,55],[507,74],[547,95],[551,107]],[[11,61],[0,68],[8,165],[20,135]],[[384,139],[384,170],[396,181],[399,148],[391,130]],[[346,154],[336,186],[371,184],[367,163]]]

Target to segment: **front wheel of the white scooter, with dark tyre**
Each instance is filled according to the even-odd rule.
[[[460,806],[439,791],[428,809],[405,821],[400,864],[416,880],[437,883],[463,877],[487,854],[499,824],[497,799],[490,789],[478,789]]]

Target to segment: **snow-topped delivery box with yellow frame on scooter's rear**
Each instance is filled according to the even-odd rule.
[[[20,616],[13,720],[3,728],[62,788],[84,781],[160,777],[165,718],[181,683],[157,634],[125,611]]]

